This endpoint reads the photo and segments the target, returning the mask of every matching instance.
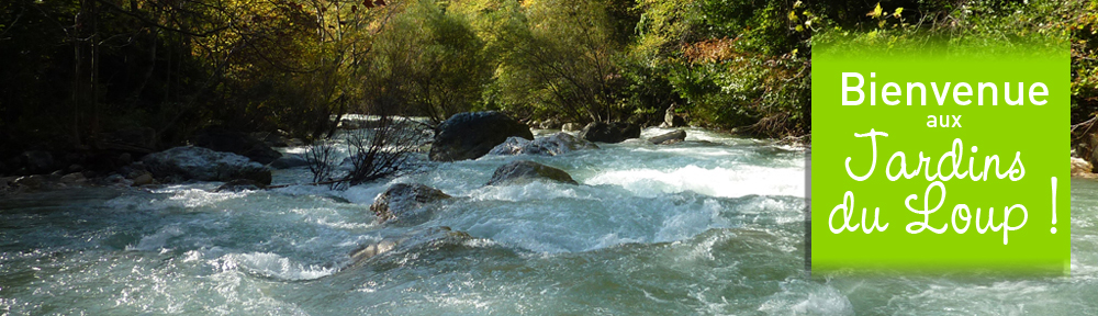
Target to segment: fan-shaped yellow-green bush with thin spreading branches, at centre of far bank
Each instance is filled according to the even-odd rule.
[[[514,3],[514,2],[512,2]],[[614,63],[627,36],[609,19],[605,1],[525,1],[511,5],[497,29],[502,52],[495,70],[495,106],[523,116],[574,122],[615,116],[620,81]]]

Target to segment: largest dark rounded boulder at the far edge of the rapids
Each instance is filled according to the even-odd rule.
[[[534,139],[530,127],[495,111],[455,114],[438,125],[430,160],[477,159],[503,144],[507,137]]]

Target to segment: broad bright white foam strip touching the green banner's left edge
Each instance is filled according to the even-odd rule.
[[[743,166],[738,169],[686,166],[672,170],[630,169],[597,173],[585,184],[620,185],[639,196],[693,191],[709,196],[804,196],[804,171],[787,168]]]

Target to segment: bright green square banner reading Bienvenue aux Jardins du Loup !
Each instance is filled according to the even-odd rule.
[[[851,47],[813,56],[813,271],[1068,273],[1067,46]]]

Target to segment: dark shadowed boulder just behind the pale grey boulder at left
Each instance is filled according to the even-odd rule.
[[[194,134],[193,145],[248,157],[256,162],[267,165],[282,157],[278,150],[271,149],[264,142],[248,134],[229,131],[223,127],[208,127]]]

